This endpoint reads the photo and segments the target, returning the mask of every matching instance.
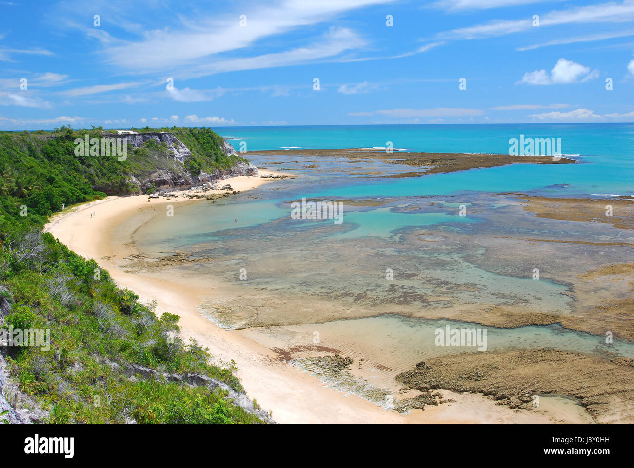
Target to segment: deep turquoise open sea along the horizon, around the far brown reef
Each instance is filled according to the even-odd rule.
[[[509,140],[561,139],[561,152],[583,164],[527,165],[477,169],[406,181],[383,181],[360,188],[338,187],[323,195],[368,196],[442,195],[459,190],[507,192],[541,190],[550,196],[592,194],[634,195],[634,124],[482,124],[223,127],[219,129],[236,150],[245,142],[248,151],[285,148],[373,148],[412,152],[508,153]],[[235,140],[233,140],[235,138]],[[569,186],[549,188],[567,183]],[[315,195],[315,194],[312,194]],[[600,196],[599,195],[599,196]]]

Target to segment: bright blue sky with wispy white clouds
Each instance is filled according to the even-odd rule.
[[[634,0],[0,1],[3,130],[634,122],[633,104]]]

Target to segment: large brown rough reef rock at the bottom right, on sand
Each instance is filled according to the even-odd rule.
[[[538,407],[538,396],[574,398],[597,422],[634,422],[634,361],[611,353],[496,349],[438,356],[394,379],[427,393],[480,393],[512,410]]]

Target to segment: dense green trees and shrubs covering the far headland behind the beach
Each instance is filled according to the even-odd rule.
[[[54,131],[0,132],[0,211],[13,214],[25,205],[29,215],[46,216],[66,206],[103,198],[106,195],[138,193],[132,177],[141,180],[152,172],[188,172],[227,169],[245,159],[226,155],[224,140],[211,129],[171,127],[136,129],[139,132],[173,133],[191,150],[184,163],[175,161],[167,146],[150,140],[134,149],[127,145],[127,159],[113,155],[75,155],[75,139],[102,138],[103,127]]]

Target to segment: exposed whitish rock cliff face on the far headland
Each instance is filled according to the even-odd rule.
[[[143,146],[146,141],[154,140],[159,145],[165,143],[167,149],[171,153],[174,160],[179,164],[183,164],[190,156],[191,150],[184,143],[176,138],[173,133],[169,132],[148,132],[148,133],[132,133],[132,134],[103,134],[103,138],[117,138],[118,140],[126,139],[127,143],[134,148]],[[223,152],[226,155],[239,156],[235,152],[233,146],[224,141]],[[214,183],[214,181],[227,179],[234,176],[251,176],[257,174],[257,167],[247,162],[238,161],[228,169],[216,169],[213,172],[200,172],[198,176],[191,176],[185,170],[172,171],[168,169],[158,169],[150,174],[150,176],[138,179],[131,176],[129,183],[138,186],[139,192],[145,192],[152,186],[161,190],[187,189],[191,186],[202,185],[204,183]]]

